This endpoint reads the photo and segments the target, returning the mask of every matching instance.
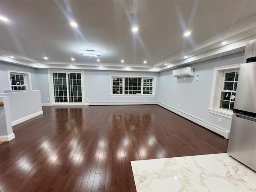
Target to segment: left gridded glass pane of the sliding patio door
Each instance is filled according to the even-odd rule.
[[[52,73],[54,87],[54,101],[56,103],[68,102],[66,73]]]

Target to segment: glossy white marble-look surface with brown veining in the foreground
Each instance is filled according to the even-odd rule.
[[[137,192],[256,192],[256,172],[226,153],[131,164]]]

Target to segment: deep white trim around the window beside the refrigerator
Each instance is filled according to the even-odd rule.
[[[222,78],[223,78],[222,76],[223,76],[224,72],[232,71],[232,70],[239,70],[239,68],[240,68],[240,64],[234,64],[234,65],[228,65],[228,66],[215,67],[213,69],[210,105],[208,108],[210,113],[217,114],[217,115],[232,119],[232,115],[233,115],[232,111],[219,108],[220,90],[221,90],[221,85],[222,85]]]

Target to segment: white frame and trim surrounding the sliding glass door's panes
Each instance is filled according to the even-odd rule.
[[[81,73],[81,82],[82,82],[82,103],[56,103],[54,102],[54,88],[53,88],[53,81],[52,81],[52,73],[57,72],[57,73],[67,73],[67,72],[75,72],[75,73]],[[85,85],[84,85],[84,71],[83,70],[58,70],[58,69],[53,69],[50,70],[48,69],[48,85],[49,85],[49,93],[50,93],[50,106],[65,106],[65,105],[85,105]]]

